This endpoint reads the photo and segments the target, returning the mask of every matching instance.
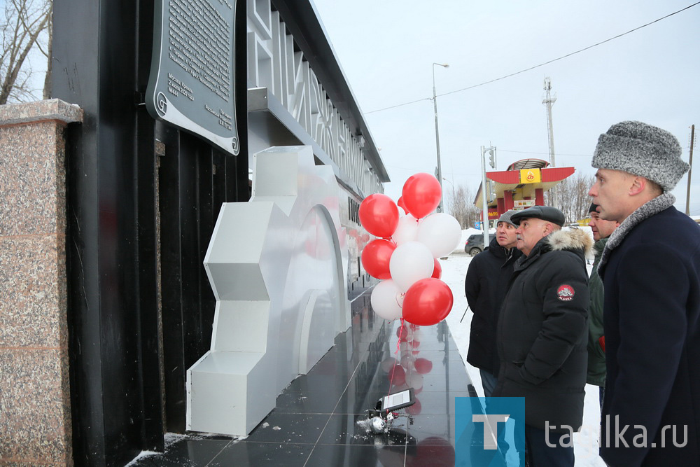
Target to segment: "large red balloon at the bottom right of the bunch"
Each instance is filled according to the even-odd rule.
[[[452,309],[452,291],[440,279],[416,281],[403,299],[403,318],[419,326],[440,323]]]

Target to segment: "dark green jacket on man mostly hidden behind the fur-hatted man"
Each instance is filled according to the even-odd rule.
[[[591,296],[591,305],[588,307],[588,384],[605,386],[605,351],[601,347],[600,339],[603,337],[603,281],[598,276],[598,263],[601,262],[603,249],[608,243],[607,238],[601,238],[596,242],[594,249],[596,259],[593,262],[593,270],[588,280],[588,291]]]

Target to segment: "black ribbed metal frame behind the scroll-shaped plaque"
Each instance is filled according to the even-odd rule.
[[[76,465],[123,465],[141,450],[162,450],[166,430],[184,431],[185,372],[208,349],[214,316],[202,260],[221,202],[250,195],[245,79],[236,83],[238,157],[148,116],[153,1],[54,4],[52,97],[85,111],[83,125],[66,132]],[[236,34],[235,67],[244,71],[243,0]],[[156,139],[165,155],[156,155]]]

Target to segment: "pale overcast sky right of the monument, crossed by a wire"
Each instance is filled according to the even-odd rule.
[[[545,76],[556,96],[557,166],[594,174],[598,135],[622,120],[672,132],[686,161],[690,125],[700,137],[700,5],[563,60],[453,92],[605,41],[695,0],[313,1],[381,148],[394,200],[409,176],[435,171],[433,62],[449,64],[435,67],[445,193],[450,183],[475,193],[480,146],[498,148],[498,170],[522,158],[549,160]],[[425,100],[372,112],[418,99]],[[684,176],[673,190],[682,210],[686,189]],[[700,215],[698,169],[690,211]]]

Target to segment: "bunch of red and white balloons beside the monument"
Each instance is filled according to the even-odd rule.
[[[458,221],[434,213],[440,183],[430,174],[406,181],[397,203],[381,193],[360,204],[360,223],[380,237],[368,243],[361,261],[367,274],[381,279],[372,291],[372,309],[389,321],[403,318],[419,326],[439,323],[452,308],[452,292],[440,280],[437,258],[447,256],[462,235]],[[399,207],[406,211],[400,216]]]

